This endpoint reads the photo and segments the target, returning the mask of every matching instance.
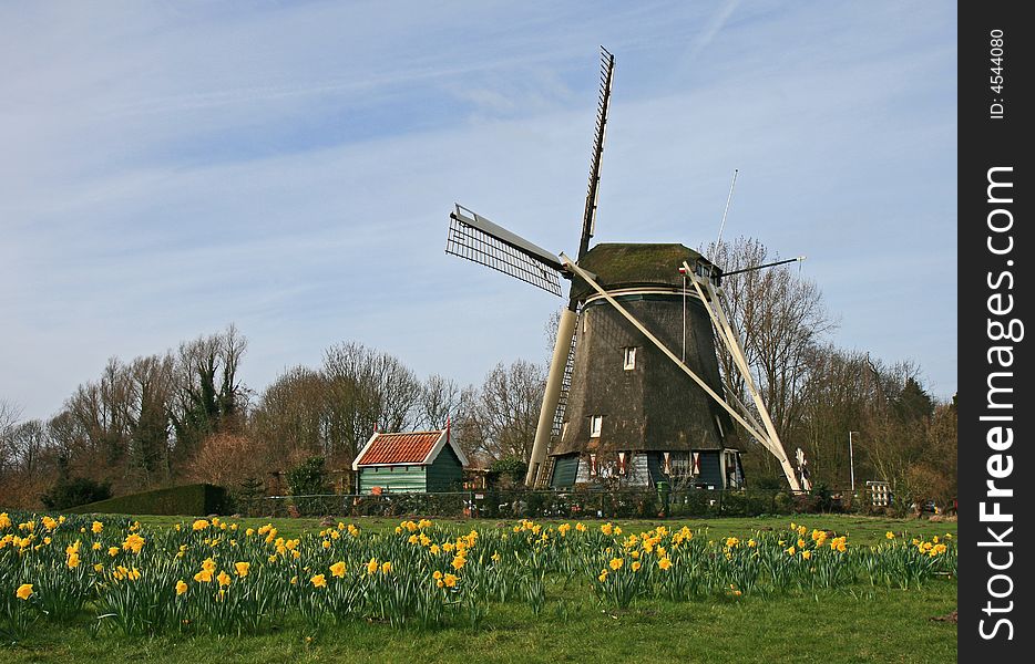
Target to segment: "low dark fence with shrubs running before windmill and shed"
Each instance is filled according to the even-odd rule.
[[[238,501],[254,517],[657,518],[750,517],[838,511],[812,496],[773,490],[657,489],[550,491],[491,489],[438,494],[273,496]]]

